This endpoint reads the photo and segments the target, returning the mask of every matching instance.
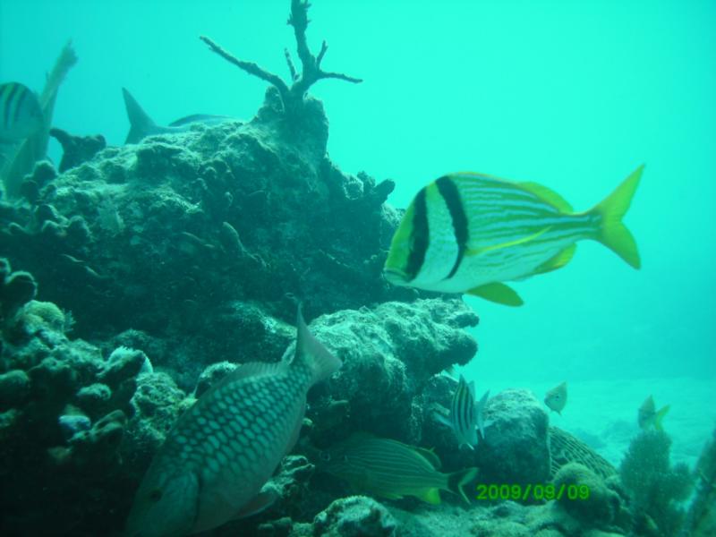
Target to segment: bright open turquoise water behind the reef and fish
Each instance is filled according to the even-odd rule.
[[[248,119],[265,84],[199,36],[285,75],[287,4],[0,0],[0,81],[39,90],[72,38],[80,61],[58,127],[121,144],[123,86],[160,124]],[[566,379],[569,419],[594,434],[651,390],[672,405],[667,429],[689,430],[684,450],[697,451],[694,431],[705,439],[716,419],[716,4],[316,0],[311,20],[311,46],[330,46],[324,67],[364,79],[312,89],[330,157],[394,179],[397,207],[473,170],[544,183],[588,209],[646,164],[626,217],[643,268],[580,243],[567,268],[516,283],[521,309],[468,298],[481,348],[466,371],[479,387],[538,395]]]

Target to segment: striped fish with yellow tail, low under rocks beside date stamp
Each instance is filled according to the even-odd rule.
[[[355,490],[386,499],[414,496],[440,503],[440,490],[453,492],[470,503],[464,487],[477,476],[476,468],[441,473],[432,451],[392,439],[354,433],[320,453],[318,467],[348,482]]]

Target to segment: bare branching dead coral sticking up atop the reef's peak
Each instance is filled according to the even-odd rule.
[[[319,54],[317,56],[311,54],[308,42],[306,41],[306,29],[308,28],[309,23],[309,7],[311,7],[311,4],[309,4],[307,0],[291,0],[291,14],[288,17],[287,22],[289,25],[294,27],[296,50],[303,68],[302,72],[296,72],[294,62],[291,60],[291,55],[288,50],[286,50],[286,63],[288,64],[288,70],[291,73],[291,86],[286,84],[286,82],[277,74],[268,72],[267,70],[261,68],[258,64],[246,62],[238,59],[234,55],[231,55],[222,47],[219,47],[210,38],[201,36],[200,39],[209,45],[211,50],[226,59],[226,61],[230,64],[234,64],[239,69],[242,69],[243,71],[273,85],[281,95],[281,100],[283,101],[286,114],[293,115],[301,109],[301,106],[303,105],[303,96],[309,88],[321,79],[331,78],[353,83],[362,82],[361,79],[345,75],[341,72],[327,72],[320,68],[320,63],[326,55],[328,45],[326,44],[326,41],[323,41]]]

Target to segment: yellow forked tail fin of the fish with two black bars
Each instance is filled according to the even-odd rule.
[[[637,167],[614,192],[590,211],[600,219],[599,229],[594,238],[634,268],[641,267],[639,251],[634,236],[621,220],[631,205],[643,171],[644,165]]]

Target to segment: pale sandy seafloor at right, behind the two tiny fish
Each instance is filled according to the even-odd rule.
[[[505,388],[529,388],[539,400],[556,384],[558,382],[510,380],[499,383],[475,379],[478,396],[486,389],[490,389],[490,394],[497,394]],[[670,405],[663,426],[673,440],[672,463],[686,463],[693,468],[716,427],[716,379],[567,381],[567,406],[562,415],[550,412],[550,424],[575,434],[618,467],[629,442],[638,432],[637,409],[650,394],[657,408]]]

